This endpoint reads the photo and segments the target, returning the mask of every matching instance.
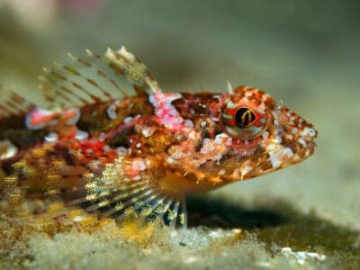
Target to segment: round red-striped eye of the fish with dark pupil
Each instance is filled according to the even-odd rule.
[[[221,113],[225,131],[238,139],[254,139],[266,130],[266,112],[258,112],[249,106],[226,106]]]

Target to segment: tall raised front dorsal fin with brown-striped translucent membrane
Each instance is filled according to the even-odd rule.
[[[103,55],[86,49],[84,58],[68,57],[69,65],[56,63],[53,69],[44,68],[40,76],[40,89],[51,109],[160,91],[148,68],[123,46]]]

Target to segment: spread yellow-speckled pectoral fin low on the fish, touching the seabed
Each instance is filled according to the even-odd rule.
[[[84,225],[102,219],[120,222],[135,214],[146,222],[186,226],[184,199],[159,190],[149,175],[126,178],[128,159],[115,157],[92,168],[70,145],[44,144],[13,164],[0,182],[1,217],[30,225],[59,220]],[[103,160],[106,155],[98,153]]]

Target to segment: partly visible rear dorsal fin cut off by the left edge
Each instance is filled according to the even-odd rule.
[[[34,105],[26,101],[23,96],[4,89],[1,85],[0,96],[0,121],[13,115],[26,113],[34,107]]]

